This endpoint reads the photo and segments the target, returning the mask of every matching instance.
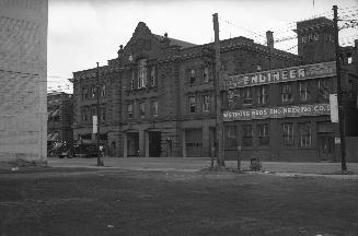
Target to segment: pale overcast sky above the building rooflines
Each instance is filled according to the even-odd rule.
[[[244,36],[265,44],[291,38],[275,47],[297,54],[296,22],[313,16],[358,19],[358,0],[49,0],[47,90],[72,93],[72,72],[107,64],[126,45],[138,22],[152,33],[206,44],[213,39],[212,14],[218,13],[220,39]],[[339,23],[340,24],[340,23]],[[342,46],[354,45],[358,27],[339,32]]]

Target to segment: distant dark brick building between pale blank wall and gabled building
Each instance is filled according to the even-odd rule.
[[[72,143],[72,95],[65,92],[47,94],[47,146],[56,141]]]

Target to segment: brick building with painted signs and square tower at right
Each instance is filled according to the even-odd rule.
[[[330,94],[336,93],[333,22],[299,22],[299,67],[229,76],[226,153],[267,161],[339,161],[337,123],[331,122]],[[345,133],[357,135],[356,47],[342,48]],[[348,59],[348,55],[351,57]],[[348,161],[358,161],[351,154]]]

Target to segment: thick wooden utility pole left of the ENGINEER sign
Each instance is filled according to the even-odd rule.
[[[216,140],[216,148],[217,148],[217,161],[218,166],[224,166],[224,154],[223,154],[223,119],[222,119],[222,110],[221,110],[221,96],[220,96],[220,88],[221,88],[221,59],[220,59],[220,38],[219,38],[219,20],[218,13],[212,14],[212,22],[213,22],[213,33],[215,33],[215,101],[216,101],[216,132],[217,132],[217,140]]]

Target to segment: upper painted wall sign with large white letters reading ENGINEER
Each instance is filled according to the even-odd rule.
[[[224,84],[227,88],[233,90],[236,87],[255,86],[261,84],[280,83],[297,80],[308,80],[333,75],[336,75],[336,64],[334,61],[331,61],[256,73],[231,75],[226,79]]]

